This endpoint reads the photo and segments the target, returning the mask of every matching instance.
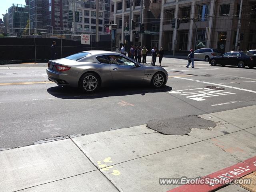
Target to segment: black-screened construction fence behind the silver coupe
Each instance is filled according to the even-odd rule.
[[[21,34],[15,30],[26,32]],[[82,34],[90,36],[90,44],[81,44]],[[65,30],[8,28],[8,33],[0,35],[0,64],[10,60],[47,61],[51,59],[53,41],[56,42],[57,58],[86,50],[115,50],[112,48],[110,34],[99,34],[99,42],[96,42],[95,33],[74,34]]]

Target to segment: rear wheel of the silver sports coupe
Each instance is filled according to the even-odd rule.
[[[100,78],[97,74],[86,73],[82,75],[79,81],[79,88],[83,92],[92,93],[100,87]]]

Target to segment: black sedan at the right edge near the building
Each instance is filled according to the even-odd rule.
[[[234,65],[239,68],[248,66],[254,68],[256,66],[256,56],[248,52],[227,52],[222,56],[214,56],[210,58],[209,63],[212,66],[216,65]]]

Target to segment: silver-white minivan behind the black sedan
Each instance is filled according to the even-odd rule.
[[[202,48],[194,51],[194,59],[209,61],[213,56],[220,56],[221,52],[218,49]]]

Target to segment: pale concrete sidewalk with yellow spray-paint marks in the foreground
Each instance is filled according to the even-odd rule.
[[[160,185],[159,179],[203,177],[255,161],[244,171],[249,174],[256,168],[255,114],[256,106],[248,106],[200,115],[216,126],[184,135],[141,125],[3,150],[0,191],[183,191],[179,185]],[[236,185],[219,190],[226,191],[247,190]]]

